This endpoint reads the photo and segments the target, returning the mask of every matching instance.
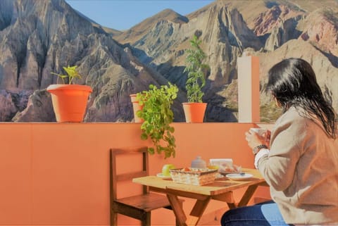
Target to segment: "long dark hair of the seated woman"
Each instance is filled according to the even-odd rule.
[[[291,106],[303,108],[306,116],[322,122],[327,134],[336,138],[336,114],[324,98],[311,65],[301,58],[287,58],[268,72],[266,91],[272,92],[277,102],[287,111]]]

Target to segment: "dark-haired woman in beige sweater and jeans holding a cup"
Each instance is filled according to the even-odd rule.
[[[311,65],[300,58],[277,63],[267,91],[283,114],[265,136],[245,135],[273,201],[227,211],[221,224],[338,225],[336,117]]]

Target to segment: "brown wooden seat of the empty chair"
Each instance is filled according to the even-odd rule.
[[[127,198],[115,200],[115,202],[122,203],[127,206],[132,206],[145,212],[150,212],[158,208],[163,208],[163,206],[166,208],[171,208],[167,197],[156,193],[130,196]]]

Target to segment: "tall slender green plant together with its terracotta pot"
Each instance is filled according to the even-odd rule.
[[[209,65],[203,63],[206,54],[201,49],[201,40],[194,35],[190,40],[192,49],[187,49],[186,63],[184,73],[187,72],[187,98],[188,103],[183,104],[185,120],[187,123],[203,123],[206,103],[203,103],[204,92],[202,88],[206,84],[206,72]]]

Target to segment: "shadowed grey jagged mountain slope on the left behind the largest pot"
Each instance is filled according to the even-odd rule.
[[[166,82],[63,0],[4,0],[0,15],[3,121],[54,121],[45,88],[62,66],[79,65],[77,83],[93,88],[87,121],[131,121],[129,94]]]

